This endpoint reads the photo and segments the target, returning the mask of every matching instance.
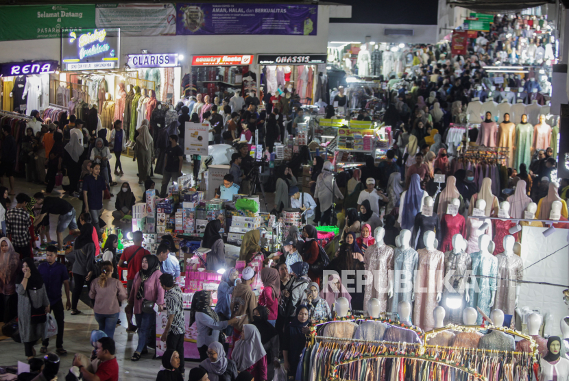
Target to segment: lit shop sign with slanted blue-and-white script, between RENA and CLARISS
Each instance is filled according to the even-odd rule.
[[[120,29],[62,29],[64,71],[118,69],[120,56]]]

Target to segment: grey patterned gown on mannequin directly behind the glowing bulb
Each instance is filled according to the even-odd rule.
[[[448,284],[452,286],[457,293],[459,293],[462,297],[461,299],[461,306],[459,308],[450,308],[447,306],[446,301],[448,297],[455,296],[456,293],[452,292],[452,289],[444,288],[443,296],[441,298],[441,302],[439,303],[445,310],[444,315],[444,324],[447,325],[448,323],[462,325],[462,312],[466,306],[466,300],[464,297],[465,293],[465,286],[468,277],[465,277],[466,271],[472,270],[472,258],[470,258],[470,254],[466,253],[465,251],[460,251],[458,254],[455,254],[454,251],[446,251],[444,254],[444,269],[445,279],[448,279]],[[452,271],[452,276],[448,275]],[[455,283],[457,284],[455,286]]]

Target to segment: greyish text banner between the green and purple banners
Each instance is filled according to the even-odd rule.
[[[174,36],[175,5],[97,4],[98,28],[119,28],[123,36]]]

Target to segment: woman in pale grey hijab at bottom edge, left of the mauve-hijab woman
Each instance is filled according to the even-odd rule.
[[[252,324],[243,325],[241,339],[235,343],[231,358],[238,371],[248,371],[255,380],[267,380],[267,352],[261,334]]]

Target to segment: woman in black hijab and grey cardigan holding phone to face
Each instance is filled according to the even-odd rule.
[[[18,328],[24,343],[27,359],[34,358],[36,349],[34,344],[42,339],[45,332],[45,315],[49,312],[49,299],[43,284],[43,278],[32,258],[22,260],[22,273],[16,280],[16,293],[18,293]]]

